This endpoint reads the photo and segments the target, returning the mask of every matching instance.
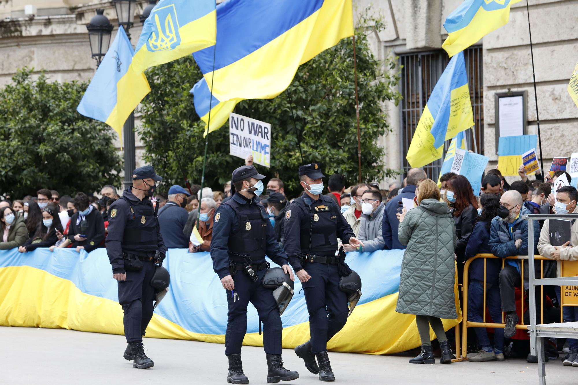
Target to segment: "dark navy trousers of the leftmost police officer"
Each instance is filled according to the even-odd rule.
[[[128,343],[142,341],[153,318],[154,288],[150,280],[154,269],[153,261],[144,261],[141,271],[127,271],[127,280],[118,281],[118,303],[123,306],[124,335]]]

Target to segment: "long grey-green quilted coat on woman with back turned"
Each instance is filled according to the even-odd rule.
[[[407,245],[401,265],[398,313],[456,319],[454,219],[447,204],[424,199],[405,215],[398,229]]]

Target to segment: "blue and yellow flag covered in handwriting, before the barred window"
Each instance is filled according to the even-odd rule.
[[[406,159],[423,167],[443,154],[443,143],[473,126],[464,53],[451,58],[417,123]]]

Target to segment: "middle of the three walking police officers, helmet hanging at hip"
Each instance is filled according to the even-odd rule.
[[[231,182],[236,193],[217,209],[213,223],[211,258],[213,269],[227,290],[229,307],[225,355],[229,360],[227,382],[248,384],[241,362],[241,346],[247,332],[247,305],[253,303],[263,328],[267,382],[288,381],[299,377],[281,361],[283,325],[271,288],[262,284],[268,264],[265,254],[293,280],[287,255],[280,249],[265,208],[257,198],[263,192],[265,176],[254,166],[242,166],[233,172]],[[234,190],[232,192],[234,192]]]

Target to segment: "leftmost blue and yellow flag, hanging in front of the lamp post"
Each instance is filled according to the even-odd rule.
[[[112,45],[76,108],[84,116],[110,125],[120,138],[127,117],[150,92],[144,73],[136,73],[131,66],[133,53],[127,34],[123,28],[118,28]]]

